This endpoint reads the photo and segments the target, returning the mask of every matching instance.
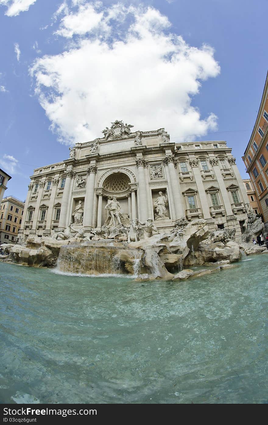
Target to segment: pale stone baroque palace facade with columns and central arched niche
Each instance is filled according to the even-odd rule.
[[[226,142],[174,143],[164,128],[131,127],[116,120],[104,137],[69,148],[69,159],[35,169],[19,233],[49,236],[70,223],[98,232],[148,218],[163,232],[204,218],[241,235],[248,195]]]

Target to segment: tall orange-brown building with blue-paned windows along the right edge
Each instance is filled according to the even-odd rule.
[[[254,129],[242,159],[268,227],[268,74]]]

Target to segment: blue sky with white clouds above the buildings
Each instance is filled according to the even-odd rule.
[[[34,168],[68,158],[115,119],[165,127],[172,141],[226,140],[247,178],[266,12],[266,0],[0,0],[5,195],[25,199]]]

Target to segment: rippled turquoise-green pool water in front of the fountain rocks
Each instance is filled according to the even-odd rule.
[[[139,283],[0,263],[1,402],[267,403],[267,265]]]

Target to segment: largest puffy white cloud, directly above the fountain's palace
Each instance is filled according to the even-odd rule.
[[[56,33],[72,44],[30,69],[60,142],[101,137],[115,119],[184,140],[216,129],[213,113],[202,117],[191,105],[202,80],[219,74],[213,48],[188,45],[152,7],[65,1],[60,9]]]

